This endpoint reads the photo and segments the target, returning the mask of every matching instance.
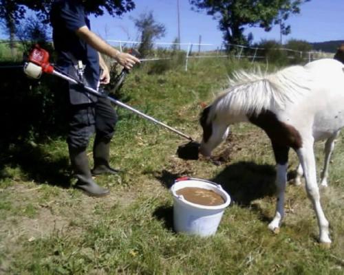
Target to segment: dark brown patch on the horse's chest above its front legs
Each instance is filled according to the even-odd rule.
[[[259,115],[252,115],[248,119],[252,124],[263,129],[275,146],[288,146],[294,148],[294,150],[302,146],[299,131],[293,126],[279,121],[272,111],[266,110],[259,113]]]

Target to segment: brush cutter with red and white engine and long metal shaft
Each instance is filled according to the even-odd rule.
[[[31,78],[40,78],[42,73],[46,74],[52,74],[54,76],[58,76],[59,78],[63,78],[69,83],[74,83],[78,85],[82,85],[87,92],[90,94],[94,94],[99,97],[108,98],[111,102],[114,104],[123,107],[129,111],[132,111],[133,113],[136,113],[137,115],[140,115],[142,118],[145,118],[147,120],[150,120],[151,122],[154,122],[155,124],[158,124],[160,126],[163,126],[166,129],[169,129],[173,133],[177,133],[178,135],[185,137],[189,142],[187,144],[184,144],[182,146],[179,146],[178,148],[178,156],[183,159],[197,159],[198,158],[198,147],[200,144],[195,142],[192,137],[189,135],[185,135],[184,133],[172,128],[171,126],[164,124],[163,122],[160,122],[158,120],[155,120],[155,118],[152,118],[149,115],[146,115],[145,113],[142,113],[133,107],[130,107],[129,105],[122,103],[114,98],[111,98],[110,96],[107,96],[107,94],[102,93],[100,91],[97,91],[96,89],[93,89],[92,87],[87,87],[81,80],[76,80],[72,78],[71,76],[68,76],[67,74],[63,74],[61,72],[58,72],[52,64],[49,63],[49,53],[39,47],[39,45],[36,45],[32,52],[30,52],[28,56],[28,61],[24,65],[24,72]],[[128,74],[127,69],[123,69],[118,78],[116,78],[116,85],[115,89],[118,89],[120,85],[122,84],[122,81],[125,79],[125,76]]]

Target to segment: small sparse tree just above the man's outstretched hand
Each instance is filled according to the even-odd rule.
[[[140,47],[138,51],[142,56],[147,54],[153,48],[154,39],[160,39],[165,35],[166,29],[162,23],[157,23],[153,17],[153,12],[143,13],[137,19],[134,19],[136,28],[140,32]]]

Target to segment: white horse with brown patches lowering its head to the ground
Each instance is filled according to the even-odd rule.
[[[319,241],[330,247],[329,222],[321,207],[313,147],[314,142],[327,140],[321,179],[326,186],[334,139],[344,126],[343,63],[324,58],[272,74],[237,72],[230,80],[230,88],[200,115],[200,153],[211,156],[213,149],[226,140],[230,124],[237,122],[250,122],[263,129],[272,144],[277,163],[277,206],[268,228],[279,232],[284,216],[288,152],[292,148],[299,158],[299,172],[303,170],[305,189],[316,213]]]

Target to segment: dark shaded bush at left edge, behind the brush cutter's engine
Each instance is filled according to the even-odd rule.
[[[35,142],[47,135],[65,133],[66,93],[57,78],[43,76],[32,80],[21,68],[2,69],[0,89],[2,141]]]

